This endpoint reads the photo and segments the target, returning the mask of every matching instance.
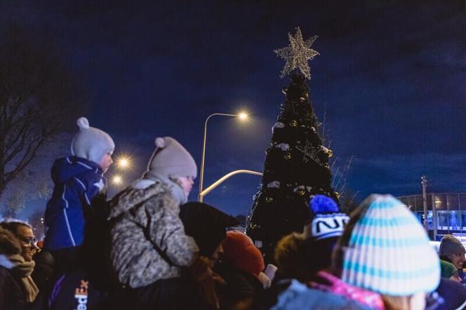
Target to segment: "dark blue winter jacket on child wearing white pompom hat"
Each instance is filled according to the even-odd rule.
[[[47,203],[44,248],[58,250],[84,241],[84,208],[105,187],[102,168],[76,156],[57,159],[52,167],[55,183]]]

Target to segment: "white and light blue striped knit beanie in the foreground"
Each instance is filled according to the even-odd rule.
[[[346,283],[383,295],[432,292],[440,262],[421,224],[391,195],[373,194],[351,215],[334,252]]]

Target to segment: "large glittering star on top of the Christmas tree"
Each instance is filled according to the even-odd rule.
[[[311,79],[311,69],[309,68],[307,60],[312,60],[312,58],[319,55],[316,50],[311,48],[312,43],[316,41],[317,37],[318,36],[312,36],[311,39],[302,41],[300,27],[296,28],[294,37],[288,33],[290,45],[286,46],[286,48],[274,50],[277,55],[286,60],[285,67],[281,71],[281,78],[298,68],[307,79]]]

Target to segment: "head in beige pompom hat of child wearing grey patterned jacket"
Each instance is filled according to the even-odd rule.
[[[157,137],[155,145],[144,177],[169,178],[187,197],[197,177],[197,166],[191,154],[173,137]]]

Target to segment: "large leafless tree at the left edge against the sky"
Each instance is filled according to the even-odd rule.
[[[50,40],[17,24],[0,28],[0,197],[76,118],[77,86]]]

